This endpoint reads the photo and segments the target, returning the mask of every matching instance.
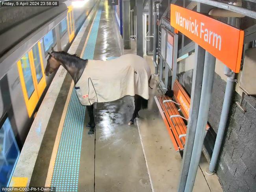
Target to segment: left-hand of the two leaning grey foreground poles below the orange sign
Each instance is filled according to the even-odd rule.
[[[195,44],[195,66],[193,69],[192,90],[191,90],[191,103],[189,110],[189,120],[187,124],[186,144],[182,158],[182,170],[180,173],[180,181],[178,192],[184,192],[187,174],[189,171],[190,159],[193,150],[195,139],[195,132],[197,128],[198,110],[200,104],[202,79],[204,72],[204,56],[205,50],[198,44]],[[193,113],[192,113],[193,112]]]

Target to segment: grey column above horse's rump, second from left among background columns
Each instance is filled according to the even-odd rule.
[[[136,0],[136,39],[137,39],[137,55],[143,57],[143,5],[142,0]]]

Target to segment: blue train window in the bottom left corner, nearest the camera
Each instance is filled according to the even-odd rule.
[[[20,151],[8,117],[0,122],[0,186],[9,186]]]

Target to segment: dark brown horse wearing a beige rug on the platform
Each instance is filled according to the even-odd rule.
[[[124,96],[134,96],[135,109],[128,125],[134,124],[141,109],[147,109],[150,67],[143,57],[122,55],[109,61],[88,60],[67,52],[48,52],[45,75],[50,76],[63,66],[74,81],[74,89],[89,114],[88,135],[94,134],[93,103],[112,102]]]

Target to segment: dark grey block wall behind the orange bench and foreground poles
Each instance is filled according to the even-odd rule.
[[[191,94],[193,70],[178,75],[180,83]],[[208,117],[211,129],[208,131],[204,148],[211,157],[219,126],[226,82],[215,74],[213,94]],[[236,105],[241,96],[234,91],[229,120],[222,144],[217,175],[224,192],[256,191],[256,99],[245,96],[243,113]]]

